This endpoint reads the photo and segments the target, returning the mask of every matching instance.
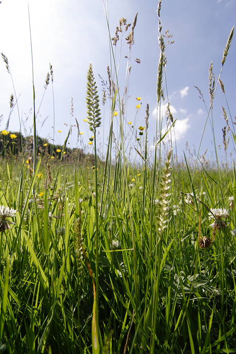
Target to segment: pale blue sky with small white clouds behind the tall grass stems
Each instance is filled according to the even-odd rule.
[[[135,121],[135,128],[144,124],[146,104],[150,105],[149,145],[152,150],[153,134],[156,125],[156,81],[159,61],[158,2],[149,0],[113,0],[108,1],[110,29],[113,35],[121,17],[132,22],[138,13],[134,32],[132,58],[139,58],[140,64],[132,63],[127,121]],[[29,1],[32,48],[34,61],[34,79],[36,110],[43,95],[43,85],[49,62],[54,68],[55,94],[55,141],[63,143],[68,132],[64,123],[74,124],[70,115],[73,97],[74,117],[84,132],[77,142],[77,130],[74,127],[70,146],[87,145],[88,132],[86,118],[86,72],[92,62],[98,85],[98,76],[107,79],[107,65],[110,64],[108,29],[102,0],[31,0]],[[174,43],[166,46],[166,79],[169,101],[175,124],[176,146],[178,154],[185,150],[188,142],[191,150],[198,149],[206,109],[199,99],[194,86],[202,91],[209,107],[208,70],[213,61],[214,74],[217,78],[223,50],[230,29],[235,23],[234,0],[163,0],[161,9],[163,32],[166,29],[173,35]],[[32,124],[30,108],[32,102],[31,53],[28,24],[27,1],[3,0],[0,4],[1,44],[0,50],[9,60],[16,93],[19,97],[21,119],[26,120],[27,132]],[[128,46],[122,48],[120,64],[120,85],[124,82]],[[0,65],[1,109],[3,121],[0,129],[6,127],[9,115],[9,98],[13,93],[12,82],[2,61]],[[235,115],[235,37],[233,38],[222,76],[232,118]],[[166,96],[166,92],[164,93]],[[101,94],[100,94],[101,96]],[[135,97],[141,97],[143,105],[136,115]],[[226,108],[223,94],[218,88],[213,110],[216,144],[221,145],[219,153],[223,155],[222,127],[225,121],[221,106]],[[154,114],[153,114],[154,113]],[[228,115],[229,112],[227,111]],[[28,117],[28,119],[27,119]],[[48,117],[41,127],[43,120]],[[164,124],[164,123],[163,123]],[[37,131],[41,137],[51,141],[53,137],[53,100],[52,87],[49,86],[40,108]],[[103,125],[100,128],[101,145],[106,143],[109,126],[109,111],[105,110]],[[163,125],[164,126],[164,125]],[[17,110],[13,111],[10,130],[19,129]],[[129,127],[126,127],[129,129]],[[62,133],[58,133],[62,130]],[[126,130],[128,131],[128,130]],[[103,134],[105,138],[103,138]],[[131,141],[130,149],[134,142]],[[210,124],[204,135],[201,152],[214,150]],[[92,150],[91,150],[92,151]],[[229,147],[229,152],[232,148]]]

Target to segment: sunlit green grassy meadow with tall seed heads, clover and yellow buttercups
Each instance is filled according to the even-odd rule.
[[[166,102],[160,10],[161,2],[158,107]],[[123,107],[129,92],[119,90],[118,46],[123,38],[131,61],[136,20],[122,18],[111,35],[113,64],[102,93],[88,68],[90,162],[68,150],[70,128],[63,146],[37,137],[35,107],[30,141],[8,126],[0,133],[0,353],[236,352],[235,168],[222,167],[217,152],[213,166],[200,163],[199,152],[194,161],[179,163],[169,106],[168,134],[161,135],[157,119],[153,160],[148,105],[130,143]],[[232,36],[233,30],[222,68]],[[215,80],[210,69],[207,120],[216,90],[224,90],[220,74]],[[130,71],[126,75],[128,87]],[[45,90],[51,84],[52,66]],[[17,110],[13,100],[11,110]],[[140,102],[137,97],[137,110]],[[98,131],[105,104],[110,132],[102,157]],[[226,118],[225,136],[227,130],[234,142],[234,125]],[[138,163],[127,156],[128,144],[135,146]]]

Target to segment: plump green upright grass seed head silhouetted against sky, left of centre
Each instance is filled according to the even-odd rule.
[[[101,125],[101,111],[99,108],[98,86],[92,70],[92,64],[89,64],[87,72],[87,119],[89,129],[95,133],[96,129]]]

